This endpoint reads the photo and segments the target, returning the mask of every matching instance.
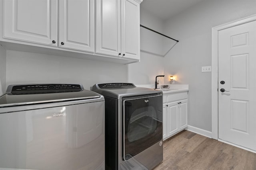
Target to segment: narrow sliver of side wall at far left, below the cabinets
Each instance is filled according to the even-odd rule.
[[[0,96],[6,90],[6,50],[0,45]]]

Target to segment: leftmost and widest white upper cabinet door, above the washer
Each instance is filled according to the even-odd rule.
[[[3,37],[57,46],[57,0],[4,0]]]

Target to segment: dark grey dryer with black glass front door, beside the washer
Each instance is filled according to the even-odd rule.
[[[106,170],[151,170],[163,160],[162,91],[95,84],[105,98]]]

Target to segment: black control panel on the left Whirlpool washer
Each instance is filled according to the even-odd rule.
[[[80,84],[20,84],[12,86],[12,94],[40,94],[58,92],[79,92]]]

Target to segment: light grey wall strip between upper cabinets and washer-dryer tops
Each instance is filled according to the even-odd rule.
[[[6,84],[126,82],[127,65],[7,50]]]

